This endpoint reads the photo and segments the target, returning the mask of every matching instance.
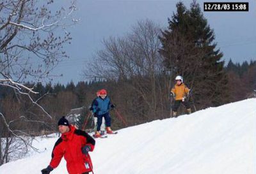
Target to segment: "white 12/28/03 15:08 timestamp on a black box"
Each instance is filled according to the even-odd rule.
[[[204,3],[204,11],[249,11],[249,3],[207,2]]]

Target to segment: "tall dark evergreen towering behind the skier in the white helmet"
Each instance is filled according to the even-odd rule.
[[[175,75],[182,75],[193,89],[199,108],[218,106],[228,99],[227,76],[223,69],[223,54],[216,49],[214,31],[207,24],[196,1],[187,10],[177,3],[177,12],[168,19],[168,30],[162,32],[159,50],[164,66]]]

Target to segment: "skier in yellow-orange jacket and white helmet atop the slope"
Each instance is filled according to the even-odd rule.
[[[189,94],[188,87],[183,83],[182,76],[176,76],[175,78],[176,84],[172,88],[171,97],[175,98],[175,102],[173,105],[172,117],[177,117],[177,110],[180,106],[180,103],[184,105],[187,109],[187,113],[191,113],[191,108],[189,106],[188,100],[186,99]]]

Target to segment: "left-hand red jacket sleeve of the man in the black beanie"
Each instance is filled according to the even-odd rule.
[[[59,140],[56,141],[54,148],[52,150],[52,159],[50,163],[50,166],[52,168],[58,167],[58,165],[60,164],[61,158],[64,155],[63,150],[61,148],[61,142],[62,142],[62,139],[59,138]]]

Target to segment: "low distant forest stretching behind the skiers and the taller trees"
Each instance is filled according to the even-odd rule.
[[[229,97],[225,103],[239,101],[253,96],[253,90],[256,88],[256,61],[251,61],[250,63],[245,61],[242,64],[235,64],[230,60],[227,66],[225,66],[225,72],[228,76],[227,85],[229,91]],[[153,113],[148,113],[147,110],[143,110],[146,106],[143,106],[145,103],[142,102],[140,96],[138,96],[135,91],[132,91],[132,89],[122,87],[123,83],[124,82],[101,82],[97,79],[90,82],[78,82],[77,84],[69,82],[67,85],[60,83],[54,85],[52,85],[52,83],[47,83],[46,85],[42,85],[42,83],[26,83],[26,86],[34,87],[34,91],[39,92],[38,95],[34,96],[35,100],[39,99],[38,103],[52,115],[54,120],[44,117],[44,113],[38,108],[31,107],[29,100],[24,99],[26,102],[21,103],[19,99],[17,99],[15,92],[7,87],[0,87],[0,106],[2,112],[8,115],[8,118],[12,118],[12,115],[17,115],[18,113],[22,113],[22,115],[26,115],[27,118],[33,118],[34,120],[36,117],[40,120],[42,118],[41,116],[43,116],[45,124],[35,123],[33,126],[29,124],[31,131],[39,131],[42,129],[54,130],[56,129],[56,121],[61,116],[67,115],[72,108],[84,106],[86,113],[88,113],[88,108],[92,100],[96,97],[96,92],[99,89],[106,89],[111,101],[115,103],[116,108],[122,113],[129,125],[169,117],[168,108],[170,108],[170,102],[165,101],[165,103],[161,103],[161,101],[158,101],[159,105],[166,106],[166,111],[159,111],[159,114],[155,116]],[[164,95],[168,97],[169,94],[167,92]],[[202,97],[207,98],[207,96]],[[193,101],[193,103],[195,103],[198,109],[214,106],[209,105],[202,107],[197,105],[196,101]],[[220,105],[225,103],[220,103]],[[12,109],[10,110],[10,108]],[[180,112],[182,112],[182,110]],[[86,114],[84,114],[84,116],[85,115]],[[115,129],[123,127],[122,122],[117,119],[115,112],[111,112],[111,115],[113,117],[113,127],[115,127]],[[22,122],[22,124],[28,123]]]

